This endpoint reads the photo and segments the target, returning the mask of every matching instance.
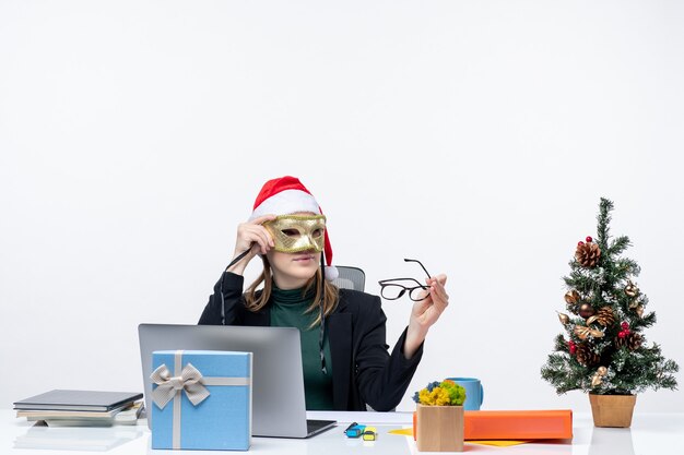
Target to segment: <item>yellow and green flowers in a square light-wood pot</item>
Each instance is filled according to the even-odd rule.
[[[420,452],[463,452],[465,390],[451,380],[432,382],[413,396]]]

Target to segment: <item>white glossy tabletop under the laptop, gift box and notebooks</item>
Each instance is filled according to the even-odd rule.
[[[252,438],[250,452],[281,455],[418,454],[412,438],[390,434],[389,430],[411,424],[410,412],[308,412],[312,419],[334,419],[338,427],[306,440]],[[376,441],[349,439],[342,431],[350,422],[373,424]],[[468,453],[517,455],[647,455],[684,453],[684,414],[635,414],[629,429],[594,428],[590,414],[573,416],[571,441],[543,441],[510,447],[465,443]],[[49,452],[46,452],[49,451]],[[202,454],[216,452],[153,451],[150,430],[141,419],[137,426],[108,428],[48,428],[36,426],[15,411],[0,409],[0,454]],[[234,452],[226,452],[234,453]],[[426,452],[420,452],[425,454]]]

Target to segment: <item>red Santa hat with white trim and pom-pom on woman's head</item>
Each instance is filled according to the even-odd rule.
[[[290,215],[297,212],[312,212],[323,214],[320,205],[314,199],[309,190],[302,184],[296,177],[285,176],[278,179],[269,180],[263,184],[257,200],[255,201],[253,211],[249,220],[263,215]],[[330,237],[328,236],[328,226],[325,232],[325,274],[329,282],[335,279],[339,275],[338,268],[332,265],[332,247],[330,247]]]

